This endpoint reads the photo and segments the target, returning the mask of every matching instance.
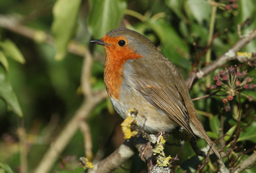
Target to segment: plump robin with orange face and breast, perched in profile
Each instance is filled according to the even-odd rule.
[[[134,30],[118,28],[90,42],[105,48],[107,94],[123,119],[128,110],[136,108],[136,121],[146,133],[171,133],[180,125],[191,136],[203,138],[220,159],[179,69],[151,40]]]

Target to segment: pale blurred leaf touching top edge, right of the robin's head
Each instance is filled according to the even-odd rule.
[[[193,16],[200,24],[203,20],[209,21],[211,6],[205,0],[187,0],[185,4],[187,16]]]

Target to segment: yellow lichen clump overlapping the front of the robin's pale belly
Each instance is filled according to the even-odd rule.
[[[123,123],[121,124],[125,139],[129,139],[132,136],[136,136],[136,134],[138,134],[138,131],[131,130],[131,124],[132,123],[137,124],[136,115],[134,115],[135,114],[134,112],[136,112],[136,110],[134,109],[128,110],[127,117],[125,118],[125,120],[123,120]]]

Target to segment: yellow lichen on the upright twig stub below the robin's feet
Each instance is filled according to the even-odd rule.
[[[164,137],[161,136],[160,141],[156,143],[156,146],[153,149],[153,154],[156,156],[156,163],[159,167],[168,167],[169,160],[172,159],[171,156],[165,156],[164,154]]]

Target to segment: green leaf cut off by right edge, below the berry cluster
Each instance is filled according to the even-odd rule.
[[[256,143],[256,122],[253,122],[248,128],[246,128],[240,134],[237,141],[252,141]]]

